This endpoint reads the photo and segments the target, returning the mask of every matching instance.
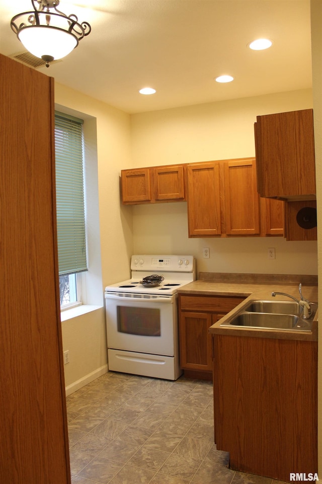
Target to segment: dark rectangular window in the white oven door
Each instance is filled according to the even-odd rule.
[[[160,310],[118,306],[117,330],[139,336],[161,336]]]

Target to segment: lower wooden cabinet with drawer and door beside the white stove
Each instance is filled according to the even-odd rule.
[[[179,294],[180,365],[185,376],[212,379],[209,327],[244,298]]]

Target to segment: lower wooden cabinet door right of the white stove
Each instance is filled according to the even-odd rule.
[[[212,371],[210,313],[180,314],[180,364],[181,368],[196,371]]]

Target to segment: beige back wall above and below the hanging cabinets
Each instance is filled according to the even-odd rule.
[[[301,90],[131,115],[132,164],[151,166],[255,156],[256,116],[312,107]],[[210,259],[202,248],[210,248]],[[268,248],[276,259],[268,259]],[[282,237],[188,238],[186,203],[133,206],[134,252],[187,253],[197,271],[317,274],[316,242]]]

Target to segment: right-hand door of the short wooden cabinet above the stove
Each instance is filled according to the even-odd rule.
[[[153,168],[154,199],[156,201],[184,200],[184,166]]]

